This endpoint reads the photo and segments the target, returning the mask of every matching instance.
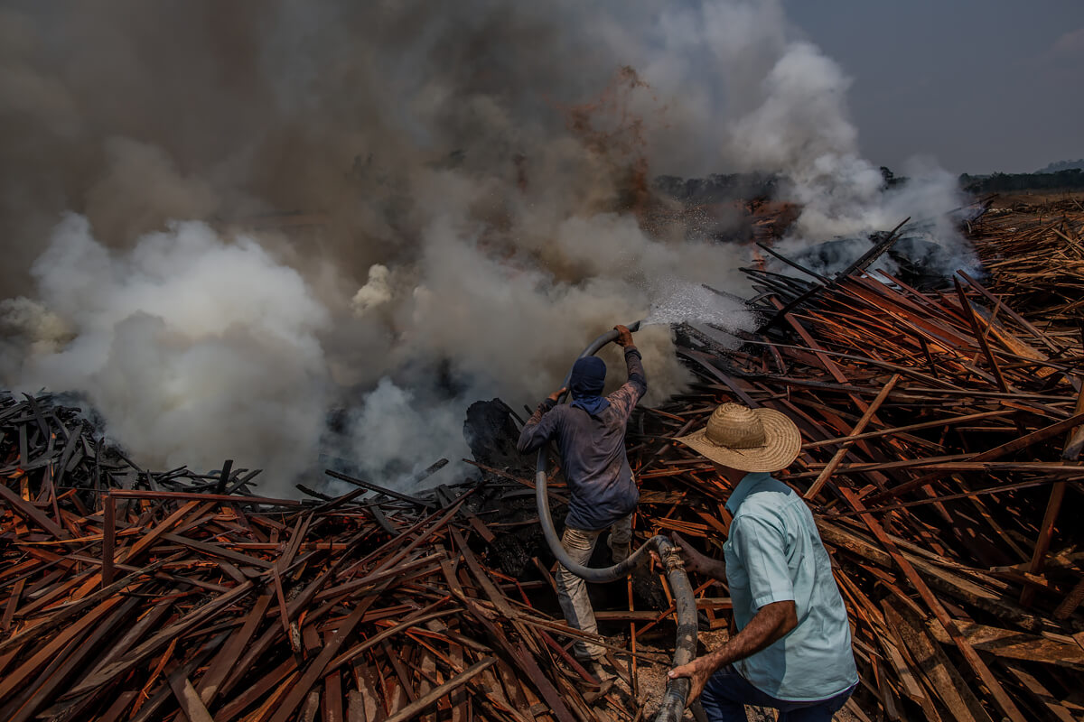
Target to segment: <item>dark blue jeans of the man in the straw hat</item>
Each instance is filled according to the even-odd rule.
[[[779,710],[778,722],[829,722],[853,691],[851,687],[835,697],[815,701],[776,699],[749,684],[734,665],[727,665],[708,680],[700,701],[708,722],[746,722],[746,705],[774,707]]]

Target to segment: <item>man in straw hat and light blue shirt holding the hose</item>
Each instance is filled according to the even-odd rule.
[[[708,425],[678,439],[715,464],[734,490],[724,561],[674,535],[689,572],[730,587],[738,628],[723,646],[670,671],[692,681],[710,722],[745,722],[745,705],[774,707],[779,720],[830,720],[857,684],[847,608],[813,515],[772,477],[798,457],[801,435],[787,416],[723,404]]]

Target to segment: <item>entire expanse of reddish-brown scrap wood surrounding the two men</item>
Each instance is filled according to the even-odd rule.
[[[944,291],[864,275],[876,252],[833,279],[750,270],[761,332],[733,351],[711,328],[680,329],[699,381],[633,418],[638,539],[679,531],[715,555],[730,489],[673,437],[724,401],[798,422],[803,451],[784,478],[836,564],[859,719],[1084,713],[1080,296],[1064,290],[1075,281],[1059,275],[1057,249],[1049,261],[1031,252],[1055,229],[1079,238],[1080,220],[1028,231],[980,219],[993,276]],[[424,498],[352,480],[341,497],[268,499],[254,496],[256,472],[231,463],[141,469],[48,396],[0,397],[0,431],[3,719],[650,713],[637,681],[668,662],[643,651],[671,623],[664,587],[645,603],[630,582],[627,604],[599,608],[604,631],[623,631],[610,653],[631,695],[589,701],[573,632],[552,612],[551,560],[519,550],[532,580],[495,570],[535,525],[509,521],[502,501],[529,506],[528,472],[475,461],[480,486]],[[556,474],[557,518],[563,493]],[[725,628],[725,587],[694,588],[702,628]]]

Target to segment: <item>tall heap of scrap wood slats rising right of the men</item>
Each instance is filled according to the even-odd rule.
[[[723,353],[686,328],[680,354],[702,382],[633,420],[637,478],[668,486],[644,493],[640,526],[721,556],[730,489],[667,438],[724,401],[786,412],[804,444],[783,478],[814,510],[854,625],[851,711],[1080,719],[1080,341],[966,275],[920,293],[888,276],[748,273],[762,333]]]

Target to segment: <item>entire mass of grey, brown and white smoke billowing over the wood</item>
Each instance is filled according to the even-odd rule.
[[[956,205],[935,168],[881,192],[775,0],[27,2],[0,40],[0,382],[276,493],[318,450],[454,460],[470,401],[533,405],[616,323],[749,325],[701,287],[747,251],[648,223],[653,174],[777,172],[796,245]]]

